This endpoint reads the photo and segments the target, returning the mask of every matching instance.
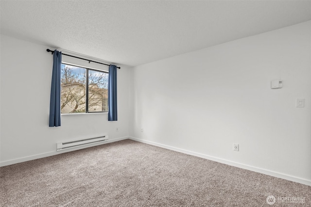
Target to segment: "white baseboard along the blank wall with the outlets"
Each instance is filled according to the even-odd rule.
[[[233,161],[226,160],[226,159],[216,158],[216,157],[204,155],[204,154],[201,154],[201,153],[196,153],[196,152],[192,152],[192,151],[189,151],[189,150],[184,150],[184,149],[168,146],[168,145],[165,145],[165,144],[160,144],[160,143],[155,143],[155,142],[151,142],[151,141],[147,141],[147,140],[142,140],[142,139],[138,139],[138,138],[135,138],[135,137],[129,137],[129,139],[137,141],[137,142],[141,142],[141,143],[147,143],[147,144],[155,145],[155,146],[162,147],[162,148],[165,148],[165,149],[170,149],[170,150],[173,150],[173,151],[176,151],[176,152],[181,152],[181,153],[184,153],[184,154],[193,155],[193,156],[204,158],[204,159],[209,159],[209,160],[220,162],[220,163],[224,163],[224,164],[227,164],[227,165],[239,167],[239,168],[242,168],[242,169],[245,169],[245,170],[250,170],[250,171],[257,172],[257,173],[262,173],[262,174],[265,174],[265,175],[271,175],[271,176],[274,176],[274,177],[278,177],[278,178],[282,178],[282,179],[285,179],[285,180],[290,180],[290,181],[294,181],[294,182],[297,182],[297,183],[301,183],[301,184],[304,184],[304,185],[311,186],[311,180],[306,180],[306,179],[295,177],[295,176],[292,176],[292,175],[285,175],[285,174],[282,174],[282,173],[277,173],[277,172],[274,172],[274,171],[270,171],[270,170],[266,170],[266,169],[262,169],[262,168],[258,168],[258,167],[254,167],[254,166],[250,166],[250,165],[245,165],[245,164],[242,164],[242,163],[233,162]]]

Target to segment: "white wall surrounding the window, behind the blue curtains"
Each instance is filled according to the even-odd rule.
[[[129,68],[118,65],[118,121],[108,122],[107,113],[70,114],[62,115],[61,127],[49,127],[53,56],[46,49],[53,48],[5,35],[1,35],[0,47],[1,166],[57,154],[59,141],[104,134],[111,141],[128,137]],[[68,56],[63,61],[108,70],[108,66]]]

